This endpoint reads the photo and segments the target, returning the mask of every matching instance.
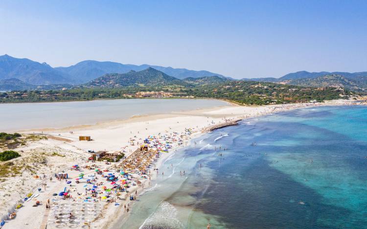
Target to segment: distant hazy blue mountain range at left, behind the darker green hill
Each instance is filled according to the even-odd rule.
[[[90,82],[108,73],[127,73],[131,70],[141,71],[153,67],[178,79],[187,77],[204,77],[220,74],[209,71],[194,71],[185,68],[162,67],[155,65],[134,65],[117,62],[82,61],[69,67],[51,67],[46,62],[39,63],[29,59],[14,58],[9,55],[0,56],[0,80],[18,79],[32,85],[69,83],[80,84]]]

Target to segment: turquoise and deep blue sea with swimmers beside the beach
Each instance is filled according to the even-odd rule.
[[[367,107],[244,120],[193,140],[161,171],[115,228],[367,228]]]

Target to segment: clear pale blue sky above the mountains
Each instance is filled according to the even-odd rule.
[[[367,71],[367,0],[1,0],[0,55],[208,70]]]

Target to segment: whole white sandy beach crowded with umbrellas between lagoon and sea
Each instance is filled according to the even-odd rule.
[[[59,223],[54,218],[62,215],[62,211],[56,211],[58,208],[65,209],[65,214],[75,212],[72,217],[62,221],[68,227],[109,228],[115,219],[128,215],[127,208],[134,207],[134,200],[130,200],[130,196],[133,194],[133,198],[138,199],[139,194],[149,188],[150,180],[160,175],[159,170],[155,169],[159,169],[161,162],[178,147],[186,146],[190,139],[205,131],[234,125],[236,121],[249,117],[309,106],[339,104],[350,103],[333,101],[323,104],[230,105],[138,116],[96,125],[20,131],[21,134],[42,134],[47,139],[30,141],[15,149],[22,156],[10,162],[19,165],[21,173],[1,181],[0,216],[1,220],[5,220],[3,228],[57,228]],[[92,141],[79,141],[79,136],[91,136]],[[144,142],[146,139],[148,142]],[[148,150],[137,152],[141,145],[146,145]],[[148,153],[150,150],[151,154]],[[91,161],[88,160],[91,157],[88,151],[123,152],[126,159],[111,164]],[[131,166],[134,164],[133,168],[127,166],[128,161]],[[143,164],[146,167],[138,169]],[[71,169],[75,165],[78,167]],[[56,179],[55,176],[60,172],[67,173],[68,179]],[[67,183],[69,181],[70,184]],[[41,190],[38,191],[38,188]],[[60,195],[53,196],[64,190],[69,195],[66,200]],[[37,196],[24,201],[28,193]],[[107,195],[109,197],[103,198]],[[21,203],[17,202],[21,199],[23,206],[14,209]],[[50,208],[46,208],[47,200],[50,201]],[[32,207],[36,201],[40,205]],[[125,205],[128,207],[125,208]],[[93,208],[86,213],[92,217],[75,217],[76,214],[83,215],[85,208]],[[8,219],[8,214],[12,212],[16,212],[15,218]],[[51,212],[59,214],[52,217]]]

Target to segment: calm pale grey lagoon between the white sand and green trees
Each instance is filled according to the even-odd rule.
[[[134,115],[229,105],[205,99],[122,99],[62,103],[0,104],[0,131],[57,128],[128,119]]]

